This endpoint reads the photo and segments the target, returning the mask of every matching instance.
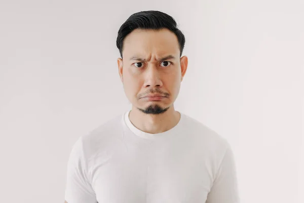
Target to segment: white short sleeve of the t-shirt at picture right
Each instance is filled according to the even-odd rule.
[[[217,171],[206,203],[239,203],[234,153],[229,143]]]

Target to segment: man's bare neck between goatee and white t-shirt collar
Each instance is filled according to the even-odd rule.
[[[174,110],[173,105],[163,114],[144,114],[132,106],[129,119],[141,131],[155,134],[165,132],[177,125],[180,114]]]

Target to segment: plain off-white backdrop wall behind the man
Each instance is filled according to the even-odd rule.
[[[304,2],[0,0],[0,202],[64,202],[74,142],[131,109],[119,27],[163,11],[188,69],[175,108],[226,138],[242,202],[304,202]]]

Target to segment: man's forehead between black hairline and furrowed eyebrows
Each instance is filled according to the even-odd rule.
[[[124,40],[123,56],[178,55],[179,44],[176,35],[168,30],[133,30]]]

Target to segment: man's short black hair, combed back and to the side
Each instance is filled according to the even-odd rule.
[[[122,58],[124,39],[127,37],[127,35],[129,35],[129,33],[137,28],[145,30],[160,30],[167,28],[171,30],[177,37],[181,56],[185,45],[185,37],[183,33],[177,28],[177,24],[174,18],[161,11],[140,11],[132,14],[118,30],[116,46],[119,49]]]

